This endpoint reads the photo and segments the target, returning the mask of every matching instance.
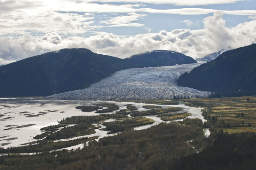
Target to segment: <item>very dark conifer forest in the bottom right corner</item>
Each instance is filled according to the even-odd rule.
[[[212,146],[199,154],[192,154],[177,160],[173,168],[184,170],[255,169],[255,133],[228,134],[220,131],[212,135],[211,139],[214,139]]]

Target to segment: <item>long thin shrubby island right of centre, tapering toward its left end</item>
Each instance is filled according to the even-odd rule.
[[[135,111],[131,113],[131,116],[147,116],[147,115],[157,115],[162,113],[169,113],[169,112],[178,112],[181,111],[182,108],[180,107],[168,107],[168,108],[160,108],[160,109],[151,109],[147,111],[138,112]]]

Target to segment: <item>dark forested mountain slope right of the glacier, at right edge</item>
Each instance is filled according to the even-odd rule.
[[[212,92],[256,90],[256,44],[229,50],[184,73],[177,84]]]

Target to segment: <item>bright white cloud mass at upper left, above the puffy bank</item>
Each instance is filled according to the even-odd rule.
[[[93,16],[77,13],[47,12],[36,16],[24,14],[10,15],[0,18],[2,34],[27,34],[37,31],[40,33],[58,32],[59,34],[83,34],[98,26],[92,26]]]

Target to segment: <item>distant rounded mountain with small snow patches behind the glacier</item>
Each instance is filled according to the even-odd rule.
[[[190,64],[197,63],[191,57],[175,51],[155,50],[152,52],[145,52],[143,54],[133,55],[125,58],[127,62],[132,64],[134,68],[139,67],[157,67],[157,66],[174,66],[176,64]]]

